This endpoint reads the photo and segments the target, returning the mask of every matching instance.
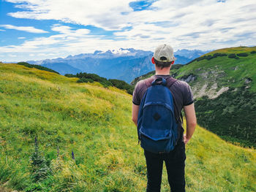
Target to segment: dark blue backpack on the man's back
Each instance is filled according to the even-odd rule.
[[[151,153],[169,153],[178,142],[178,124],[173,95],[164,78],[151,82],[140,102],[138,138],[140,146]]]

